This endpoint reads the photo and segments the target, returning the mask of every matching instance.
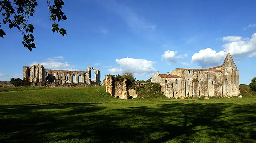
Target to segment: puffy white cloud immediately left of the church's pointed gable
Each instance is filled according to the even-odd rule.
[[[218,65],[224,60],[225,56],[226,52],[224,51],[217,53],[215,50],[211,50],[211,48],[206,48],[204,50],[200,50],[199,53],[194,53],[191,62],[198,63],[202,68],[208,68]]]

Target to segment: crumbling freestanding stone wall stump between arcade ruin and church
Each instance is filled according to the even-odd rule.
[[[127,79],[116,81],[115,75],[106,75],[102,85],[106,86],[107,93],[116,98],[131,99],[137,97],[136,91],[128,88]]]

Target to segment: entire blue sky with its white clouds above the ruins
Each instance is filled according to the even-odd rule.
[[[46,1],[38,1],[34,17],[37,49],[24,48],[21,33],[2,25],[0,81],[22,78],[23,65],[107,74],[130,70],[138,80],[156,71],[210,68],[227,52],[239,69],[240,84],[256,76],[255,0],[80,0],[64,1],[64,37],[52,33]]]

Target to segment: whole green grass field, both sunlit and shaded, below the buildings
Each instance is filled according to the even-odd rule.
[[[103,86],[15,90],[0,90],[0,143],[256,142],[255,92],[155,101],[113,98]]]

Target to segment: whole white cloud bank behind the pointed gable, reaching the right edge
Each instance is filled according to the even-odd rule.
[[[223,50],[216,52],[211,48],[200,50],[192,56],[191,62],[196,62],[202,68],[220,65],[229,52],[233,58],[241,58],[245,56],[256,56],[256,33],[251,38],[243,38],[241,36],[223,37],[226,43],[222,45]]]

